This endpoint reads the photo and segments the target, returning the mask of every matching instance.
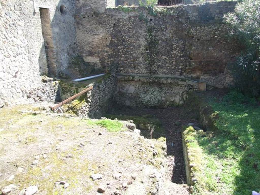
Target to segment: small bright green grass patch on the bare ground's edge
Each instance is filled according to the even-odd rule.
[[[90,120],[88,122],[90,125],[99,125],[101,127],[105,127],[108,132],[118,132],[122,131],[123,123],[120,121],[110,120],[110,119],[102,119],[102,120]]]

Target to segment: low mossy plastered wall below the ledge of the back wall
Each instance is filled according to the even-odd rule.
[[[131,107],[180,105],[187,92],[198,90],[198,82],[178,77],[117,76],[116,104]]]

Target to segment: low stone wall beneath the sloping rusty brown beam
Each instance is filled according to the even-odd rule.
[[[112,106],[113,94],[116,88],[116,78],[113,75],[106,75],[104,79],[90,83],[85,88],[90,86],[93,86],[92,90],[71,103],[64,105],[62,107],[63,112],[69,112],[81,117],[100,118],[102,113],[106,112],[107,109]],[[82,88],[82,90],[83,89],[84,88]],[[72,90],[71,92],[73,94],[70,94],[68,92],[63,93],[64,90],[61,89],[61,96],[68,98],[75,95],[75,90]],[[64,94],[66,96],[64,96]]]

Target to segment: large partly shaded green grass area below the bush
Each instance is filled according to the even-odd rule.
[[[196,136],[205,159],[205,190],[233,195],[260,191],[260,107],[234,92],[211,106],[218,113],[218,130]]]

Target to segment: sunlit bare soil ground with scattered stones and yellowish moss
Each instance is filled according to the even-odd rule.
[[[37,186],[31,194],[189,194],[186,185],[165,178],[173,169],[165,139],[145,139],[126,127],[108,132],[93,120],[50,114],[46,109],[38,105],[0,109],[3,192],[13,184],[10,195],[30,194],[29,186]],[[174,155],[173,148],[167,153]],[[102,178],[93,180],[94,174]],[[176,179],[185,176],[178,174]]]

